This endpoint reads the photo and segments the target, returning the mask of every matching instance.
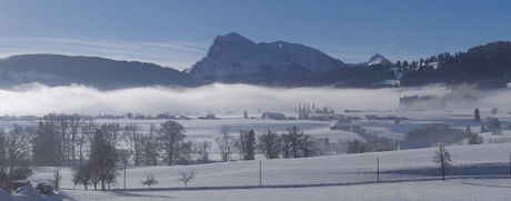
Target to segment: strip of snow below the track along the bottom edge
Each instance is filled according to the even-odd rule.
[[[184,191],[66,191],[73,200],[509,200],[508,179],[461,179],[417,182],[373,182],[299,188],[204,189]],[[71,200],[71,199],[69,199]]]

